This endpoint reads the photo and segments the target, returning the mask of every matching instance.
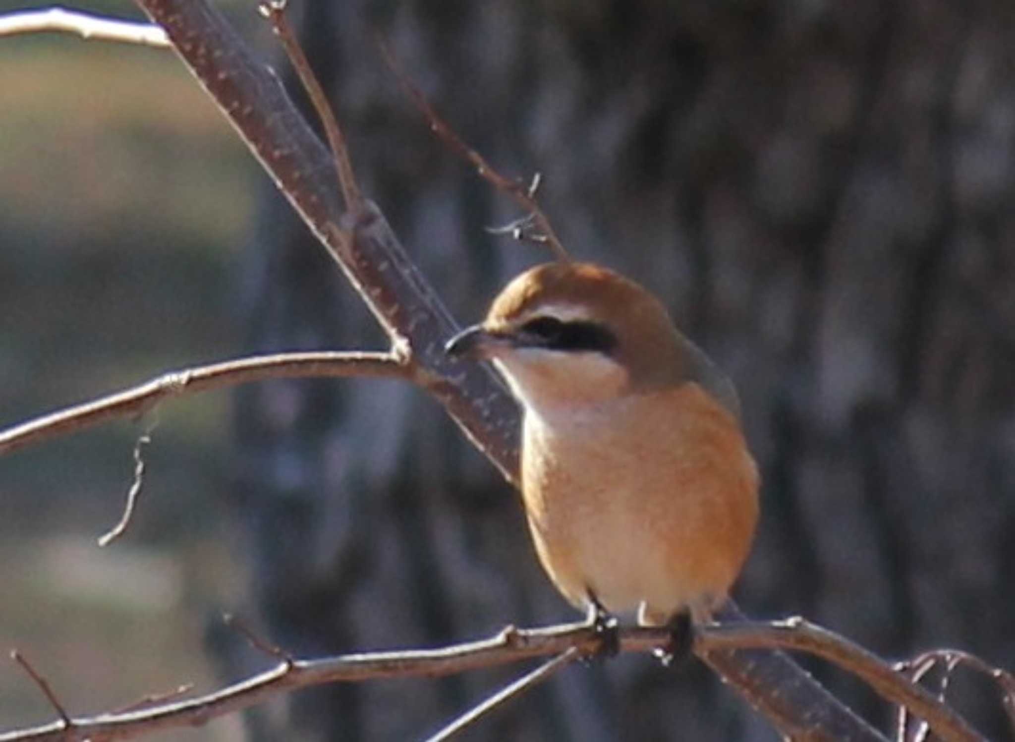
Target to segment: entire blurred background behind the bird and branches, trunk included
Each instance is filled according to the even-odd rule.
[[[253,8],[221,7],[287,74]],[[765,481],[748,613],[801,613],[889,658],[953,646],[1015,666],[1010,3],[292,10],[364,191],[463,322],[546,256],[484,232],[517,212],[431,138],[375,31],[492,162],[543,174],[574,255],[657,291],[731,374]],[[0,110],[3,421],[240,352],[384,347],[170,55],[3,40]],[[143,424],[0,460],[0,639],[74,711],[267,666],[223,609],[296,654],[576,617],[517,497],[415,390],[284,382],[163,405],[134,529],[98,551]],[[179,737],[417,738],[510,675],[316,689]],[[960,672],[951,692],[1012,738],[989,684]],[[48,718],[36,695],[0,672],[3,726]],[[623,657],[466,738],[774,735],[699,666]]]

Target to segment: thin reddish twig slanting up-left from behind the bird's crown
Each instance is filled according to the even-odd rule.
[[[517,204],[519,204],[532,216],[534,224],[538,227],[538,233],[540,234],[539,242],[545,242],[546,246],[550,249],[550,252],[553,253],[557,260],[569,261],[570,256],[567,255],[567,251],[564,250],[563,245],[560,244],[556,232],[550,225],[550,220],[546,217],[546,214],[536,201],[535,194],[536,189],[539,187],[540,177],[537,175],[533,178],[532,184],[526,186],[520,181],[505,178],[500,175],[493,168],[492,165],[490,165],[489,162],[486,161],[483,155],[466,144],[465,141],[463,141],[462,138],[455,132],[455,130],[451,128],[448,122],[441,118],[434,108],[430,105],[430,102],[426,99],[425,95],[423,95],[422,91],[416,87],[415,83],[409,79],[409,76],[399,66],[394,53],[384,40],[379,39],[378,43],[381,47],[381,52],[384,55],[388,67],[398,79],[402,89],[405,90],[406,94],[412,99],[413,104],[423,115],[423,118],[426,119],[426,123],[429,124],[430,130],[436,134],[453,152],[465,159],[467,162],[471,163],[482,178],[492,184],[498,191],[506,193],[511,196]],[[524,232],[520,231],[518,233],[521,235]]]

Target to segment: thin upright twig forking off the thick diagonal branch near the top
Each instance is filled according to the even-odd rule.
[[[349,156],[349,149],[345,144],[345,136],[342,134],[342,128],[338,125],[328,96],[321,87],[317,75],[314,74],[314,69],[311,67],[307,55],[303,54],[299,40],[292,30],[292,24],[289,23],[289,19],[285,15],[287,4],[287,0],[266,0],[261,3],[258,9],[269,20],[272,30],[281,41],[289,62],[292,63],[303,89],[310,95],[314,109],[321,119],[325,135],[328,137],[328,146],[335,158],[335,171],[338,174],[342,197],[345,199],[345,207],[353,215],[359,216],[363,213],[363,196],[359,192],[356,176],[352,171],[352,158]]]

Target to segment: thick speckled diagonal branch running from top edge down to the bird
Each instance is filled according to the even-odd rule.
[[[380,209],[343,215],[329,152],[272,70],[254,58],[203,0],[135,0],[165,28],[188,68],[236,128],[315,235],[328,249],[413,376],[512,483],[517,483],[519,415],[488,369],[452,362],[444,342],[458,325],[409,259]]]

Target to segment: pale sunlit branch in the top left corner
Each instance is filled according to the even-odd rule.
[[[60,7],[19,10],[0,15],[0,37],[48,31],[73,33],[86,41],[95,39],[159,49],[172,46],[165,31],[154,23],[138,23]]]

